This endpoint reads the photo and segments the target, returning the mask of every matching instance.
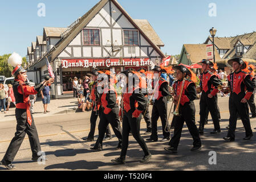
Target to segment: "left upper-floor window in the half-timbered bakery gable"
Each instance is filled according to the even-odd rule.
[[[100,30],[84,29],[83,44],[84,46],[100,46]]]

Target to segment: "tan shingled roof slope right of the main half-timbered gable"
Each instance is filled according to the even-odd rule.
[[[144,31],[144,33],[157,45],[160,47],[164,46],[164,43],[157,35],[156,31],[153,29],[151,24],[147,19],[133,19],[135,23]]]

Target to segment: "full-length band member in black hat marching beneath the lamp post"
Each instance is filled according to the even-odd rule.
[[[221,80],[217,78],[212,72],[209,71],[213,63],[209,60],[202,60],[203,73],[201,74],[202,94],[200,98],[200,127],[199,133],[204,135],[204,126],[206,121],[206,107],[208,107],[212,115],[214,130],[211,134],[221,133],[220,122],[218,120],[218,107],[217,107],[217,93],[219,92],[218,86],[222,85]]]

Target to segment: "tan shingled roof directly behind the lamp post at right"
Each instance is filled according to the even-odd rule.
[[[195,64],[206,59],[206,46],[208,44],[184,44],[186,52],[190,55],[190,61]],[[215,51],[215,59],[221,59],[218,51]]]

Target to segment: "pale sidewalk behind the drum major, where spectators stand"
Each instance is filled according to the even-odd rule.
[[[50,111],[50,113],[43,114],[43,102],[42,102],[42,98],[39,97],[36,99],[36,102],[34,105],[35,114],[33,114],[33,117],[34,118],[46,117],[46,116],[55,115],[55,114],[75,113],[76,110],[78,110],[78,112],[80,111],[78,109],[77,98],[51,100],[51,103],[48,105],[47,110]],[[0,113],[0,122],[2,121],[16,121],[15,107],[11,107],[6,114],[3,113],[3,109],[2,109],[2,112]]]

